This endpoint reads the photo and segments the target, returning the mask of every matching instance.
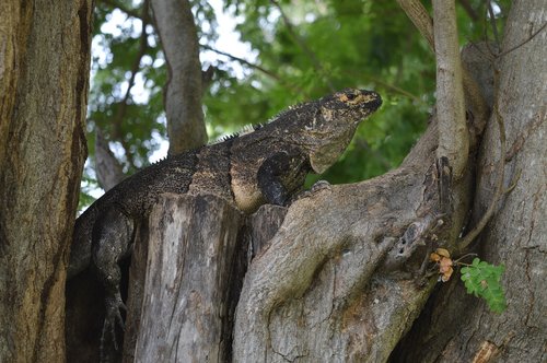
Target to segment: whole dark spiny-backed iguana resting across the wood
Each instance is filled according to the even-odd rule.
[[[68,274],[91,262],[96,268],[106,290],[103,335],[116,320],[123,324],[118,261],[159,195],[212,194],[245,213],[264,203],[286,204],[307,173],[336,162],[359,122],[381,104],[375,92],[348,89],[291,107],[249,133],[146,167],[97,199],[75,221]]]

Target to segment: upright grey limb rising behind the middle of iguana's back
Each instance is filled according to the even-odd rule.
[[[170,153],[177,154],[207,142],[197,30],[187,0],[152,0],[151,5],[168,70],[164,104]]]

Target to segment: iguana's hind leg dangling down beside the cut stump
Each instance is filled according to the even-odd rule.
[[[109,208],[96,220],[93,226],[92,258],[106,293],[106,315],[101,337],[101,355],[104,355],[107,333],[110,333],[117,350],[116,323],[124,329],[120,309],[126,311],[126,305],[119,290],[121,270],[118,262],[128,254],[133,232],[135,221],[124,213],[121,208],[117,207]]]

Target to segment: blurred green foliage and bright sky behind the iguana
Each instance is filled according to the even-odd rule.
[[[190,2],[200,44],[217,48],[212,7],[203,0]],[[489,28],[485,1],[465,2],[473,11],[457,7],[462,44],[482,40]],[[395,1],[228,0],[223,4],[237,20],[241,40],[256,56],[252,63],[268,73],[222,55],[210,65],[203,63],[203,69],[216,68],[203,97],[211,139],[248,124],[265,122],[283,108],[328,94],[331,89],[373,89],[382,94],[383,107],[360,127],[344,157],[321,178],[330,183],[362,180],[403,161],[434,106],[435,68],[432,51]],[[509,1],[496,5],[502,23]],[[113,13],[126,19],[114,32],[106,26]],[[144,13],[142,2],[131,0],[97,0],[95,8],[90,156],[98,127],[127,173],[149,164],[160,139],[166,138],[162,99],[165,62],[150,21],[144,26],[147,46],[140,46],[140,17]],[[211,54],[206,47],[202,50]],[[136,63],[136,79],[146,92],[125,99]],[[311,177],[309,183],[317,178]],[[96,188],[90,163],[83,180],[81,204],[88,204],[92,200],[89,191]]]

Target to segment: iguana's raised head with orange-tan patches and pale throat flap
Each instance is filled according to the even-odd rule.
[[[321,174],[340,157],[359,122],[382,105],[382,98],[372,91],[347,89],[314,104],[306,107],[313,115],[299,115],[304,129],[294,134],[299,140],[293,142],[309,152],[312,168]]]

